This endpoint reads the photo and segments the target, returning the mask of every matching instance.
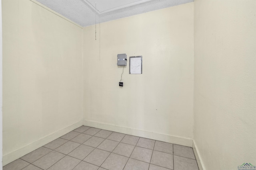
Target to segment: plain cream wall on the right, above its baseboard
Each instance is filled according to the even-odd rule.
[[[256,1],[194,2],[194,141],[206,170],[255,162]]]

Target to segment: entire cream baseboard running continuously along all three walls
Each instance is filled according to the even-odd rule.
[[[196,152],[196,147],[195,147],[196,145],[195,145],[193,139],[177,137],[177,136],[172,136],[172,135],[167,135],[167,134],[161,134],[161,133],[156,133],[156,132],[151,132],[151,131],[145,131],[145,130],[140,130],[140,129],[134,129],[134,128],[129,128],[129,127],[122,127],[122,126],[117,126],[117,125],[112,125],[112,124],[100,123],[100,122],[96,122],[96,121],[88,121],[88,120],[78,121],[77,123],[74,123],[68,127],[65,127],[59,131],[56,131],[56,132],[50,134],[50,135],[42,137],[41,139],[38,139],[37,141],[29,143],[28,145],[26,145],[20,149],[17,149],[13,152],[3,155],[3,159],[2,159],[3,166],[28,154],[29,152],[32,152],[33,150],[36,150],[36,149],[46,145],[47,143],[61,137],[62,135],[65,135],[66,133],[68,133],[82,125],[96,127],[99,129],[105,129],[105,130],[109,130],[109,131],[115,131],[115,132],[119,132],[119,133],[125,133],[128,135],[145,137],[148,139],[164,141],[164,142],[173,143],[173,144],[177,144],[177,145],[183,145],[183,146],[187,146],[187,147],[193,147],[193,150],[196,155],[196,160],[198,161],[199,169],[204,170],[204,168],[202,168],[202,165],[200,163],[200,158],[199,158],[200,156],[198,156],[198,153]],[[199,164],[201,165],[201,168],[200,168]]]

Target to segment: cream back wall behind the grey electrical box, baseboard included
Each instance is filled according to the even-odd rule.
[[[84,117],[92,125],[192,146],[193,3],[84,27]],[[143,73],[117,54],[143,56]]]

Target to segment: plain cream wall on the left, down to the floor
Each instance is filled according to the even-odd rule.
[[[29,0],[2,0],[2,25],[6,164],[82,120],[82,28]]]

